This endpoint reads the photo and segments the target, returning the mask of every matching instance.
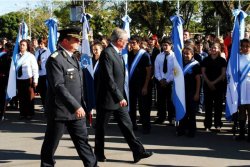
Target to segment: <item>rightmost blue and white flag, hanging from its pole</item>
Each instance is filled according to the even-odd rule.
[[[238,110],[240,97],[239,83],[239,54],[240,54],[240,39],[244,38],[245,22],[247,14],[239,9],[233,11],[234,14],[234,29],[233,43],[231,55],[227,66],[227,92],[226,92],[226,118],[231,120],[231,117]]]

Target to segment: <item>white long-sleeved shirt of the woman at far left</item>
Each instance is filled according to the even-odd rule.
[[[20,54],[21,53],[17,55],[17,62],[21,58]],[[30,52],[25,52],[23,56],[27,54],[28,54],[28,57],[25,59],[25,61],[22,62],[22,76],[21,77],[17,76],[17,79],[24,80],[24,79],[29,79],[33,77],[33,82],[38,83],[39,75],[38,75],[38,64],[37,64],[36,58]]]

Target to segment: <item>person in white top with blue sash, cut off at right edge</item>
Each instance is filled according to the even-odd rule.
[[[246,132],[246,120],[248,116],[248,136],[250,142],[250,40],[242,39],[240,42],[240,105],[239,105],[239,127],[240,134],[236,140],[244,140]]]

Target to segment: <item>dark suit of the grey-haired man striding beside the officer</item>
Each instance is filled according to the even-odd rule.
[[[112,45],[109,45],[99,59],[99,72],[96,74],[96,134],[95,154],[98,159],[104,157],[104,134],[111,114],[124,135],[134,157],[145,152],[144,147],[133,133],[133,126],[127,107],[120,107],[119,102],[127,99],[124,90],[125,66],[122,58]]]

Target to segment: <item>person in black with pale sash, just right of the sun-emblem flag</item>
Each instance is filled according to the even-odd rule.
[[[186,114],[183,119],[180,120],[177,135],[194,137],[196,133],[196,112],[198,108],[199,96],[200,96],[200,65],[199,62],[194,59],[194,50],[190,46],[185,46],[183,49],[183,72],[185,79],[185,99],[186,99]]]

